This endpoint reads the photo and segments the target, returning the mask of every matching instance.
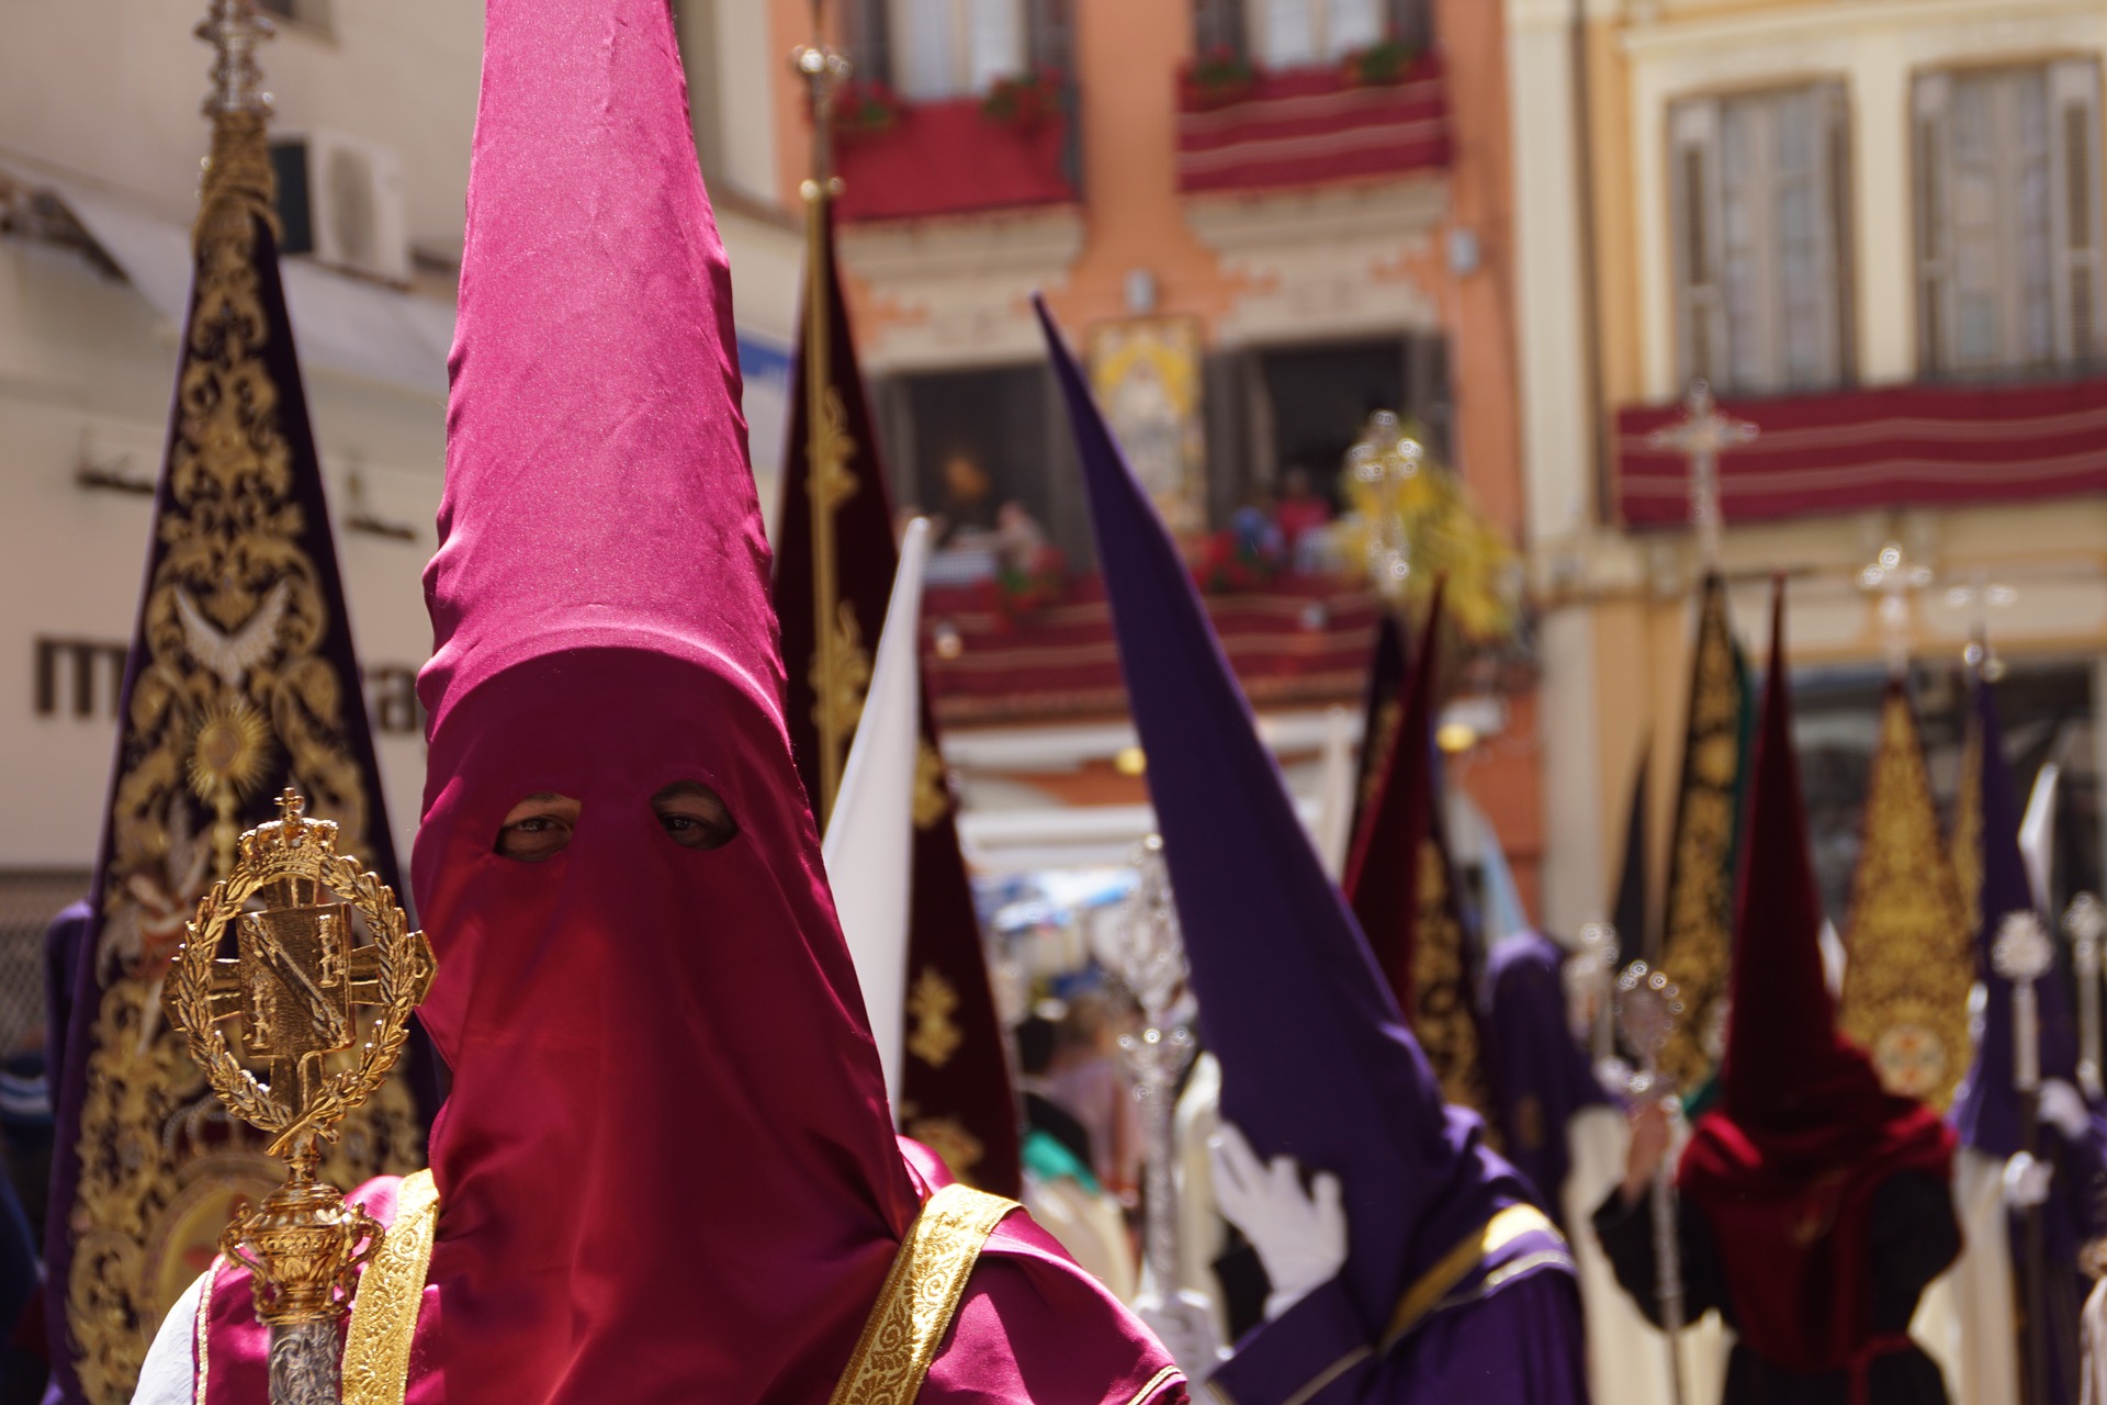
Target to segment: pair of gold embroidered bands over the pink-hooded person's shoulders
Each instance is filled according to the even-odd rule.
[[[969,1186],[944,1186],[929,1196],[885,1274],[885,1287],[879,1289],[879,1302],[870,1308],[830,1405],[912,1405],[959,1310],[982,1245],[1016,1207],[1016,1201]],[[343,1344],[343,1405],[402,1405],[436,1224],[438,1186],[432,1184],[432,1173],[407,1175],[388,1239],[352,1300],[352,1327]]]

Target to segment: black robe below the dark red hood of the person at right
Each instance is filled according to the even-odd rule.
[[[1917,1298],[1962,1251],[1960,1222],[1953,1218],[1951,1188],[1930,1175],[1901,1173],[1873,1192],[1869,1215],[1873,1253],[1873,1331],[1905,1335],[1917,1312]],[[1595,1211],[1616,1281],[1633,1295],[1648,1321],[1660,1323],[1654,1300],[1654,1215],[1646,1196],[1627,1207],[1622,1192]],[[1719,1312],[1736,1327],[1726,1264],[1711,1224],[1690,1203],[1679,1203],[1683,1251],[1683,1321]],[[1915,1344],[1884,1352],[1867,1367],[1865,1405],[1945,1405],[1947,1386],[1938,1365]],[[1724,1405],[1852,1405],[1850,1373],[1801,1376],[1766,1363],[1736,1342],[1726,1369]]]

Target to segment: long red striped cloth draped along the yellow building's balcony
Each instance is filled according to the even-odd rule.
[[[2107,491],[2107,379],[2050,385],[1888,385],[1719,407],[1761,434],[1719,459],[1728,522],[1873,508],[2014,503]],[[1648,436],[1679,404],[1618,411],[1618,512],[1690,520],[1690,468]]]

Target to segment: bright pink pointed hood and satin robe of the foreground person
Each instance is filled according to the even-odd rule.
[[[487,15],[419,680],[424,1020],[453,1089],[409,1401],[820,1405],[927,1182],[784,735],[674,32],[666,0]],[[674,781],[737,838],[676,845],[651,809]],[[569,847],[501,857],[537,792],[582,803]],[[234,1279],[206,1405],[263,1399]],[[1167,1367],[1011,1213],[921,1399],[1123,1405],[1176,1397]]]

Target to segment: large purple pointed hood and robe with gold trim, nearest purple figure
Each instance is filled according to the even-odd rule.
[[[1266,1159],[1338,1175],[1346,1262],[1214,1380],[1239,1405],[1587,1399],[1559,1232],[1448,1108],[1353,910],[1296,817],[1193,577],[1045,305],[1148,792],[1163,834],[1222,1121]],[[1481,1253],[1479,1245],[1492,1245]],[[1435,1283],[1403,1331],[1393,1321]],[[1416,1310],[1416,1308],[1414,1308]],[[1395,1338],[1395,1340],[1393,1340]]]

